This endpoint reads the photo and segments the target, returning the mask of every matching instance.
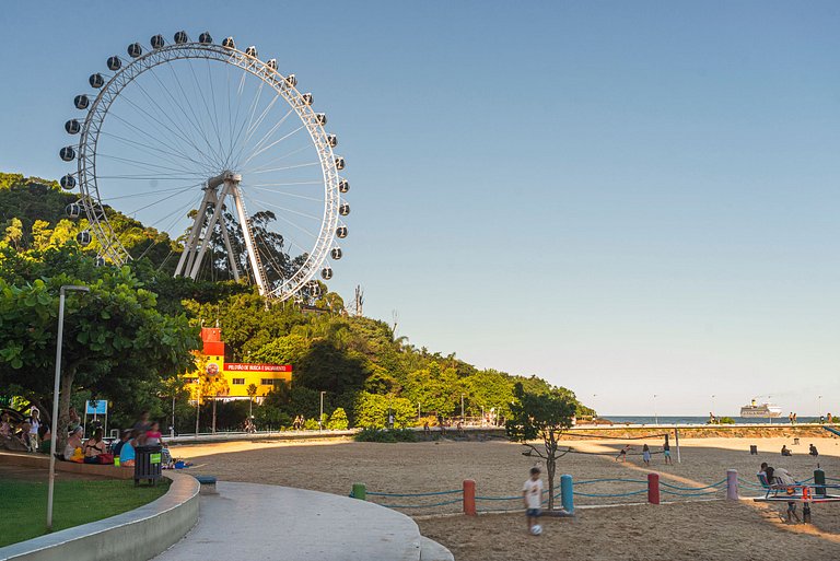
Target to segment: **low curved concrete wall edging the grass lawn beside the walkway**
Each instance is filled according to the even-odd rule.
[[[180,540],[198,523],[199,483],[166,474],[170,490],[149,504],[110,518],[0,548],[0,561],[147,561]]]

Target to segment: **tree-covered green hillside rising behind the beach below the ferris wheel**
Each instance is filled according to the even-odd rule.
[[[326,287],[313,313],[291,302],[266,306],[254,288],[232,281],[174,279],[166,264],[178,244],[115,209],[107,212],[120,241],[145,255],[121,269],[96,267],[95,246],[75,242],[85,221],[65,214],[74,200],[56,182],[0,174],[0,396],[14,398],[20,409],[32,402],[48,412],[58,288],[84,283],[90,295],[68,299],[62,389],[72,400],[62,399],[62,412],[71,402],[108,399],[113,425],[130,424],[144,409],[170,419],[174,404],[176,429],[195,430],[195,402],[180,377],[200,347],[198,327],[217,324],[226,361],[294,366],[290,387],[258,396],[264,400],[254,414],[261,426],[288,426],[299,414],[317,418],[320,391],[326,416],[339,424],[383,426],[389,412],[397,426],[457,417],[462,398],[466,416],[492,410],[502,419],[516,383],[529,393],[560,391],[579,412],[592,412],[569,389],[538,377],[479,370],[454,353],[418,349],[388,324],[349,314]],[[218,428],[240,426],[248,405],[219,404]],[[206,430],[210,414],[200,411],[199,418],[208,421]]]

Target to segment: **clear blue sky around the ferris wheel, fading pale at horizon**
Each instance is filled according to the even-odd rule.
[[[331,288],[418,347],[605,413],[840,413],[840,4],[518,4],[10,3],[0,168],[62,175],[129,43],[233,35],[339,135]]]

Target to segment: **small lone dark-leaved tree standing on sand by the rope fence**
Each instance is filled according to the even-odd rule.
[[[511,405],[511,418],[505,422],[508,437],[521,442],[529,449],[523,455],[536,454],[546,461],[548,474],[548,510],[555,507],[555,472],[557,459],[570,448],[559,452],[560,435],[572,425],[575,412],[574,398],[564,388],[550,388],[546,394],[530,394],[517,382],[513,388],[516,400]],[[541,440],[542,447],[532,444]]]

